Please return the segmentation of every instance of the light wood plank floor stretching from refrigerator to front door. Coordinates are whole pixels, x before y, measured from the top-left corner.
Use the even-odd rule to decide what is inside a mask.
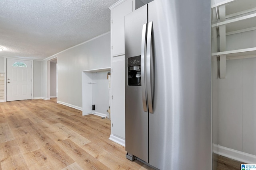
[[[108,138],[110,120],[52,100],[0,103],[0,170],[145,170]]]

